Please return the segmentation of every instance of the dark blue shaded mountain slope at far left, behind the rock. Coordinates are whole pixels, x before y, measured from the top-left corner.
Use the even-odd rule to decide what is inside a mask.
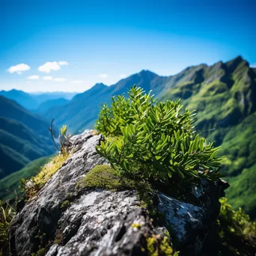
[[[55,152],[49,123],[0,96],[0,178]]]

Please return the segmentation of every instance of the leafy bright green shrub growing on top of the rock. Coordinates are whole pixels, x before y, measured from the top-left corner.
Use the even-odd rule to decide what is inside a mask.
[[[220,177],[219,147],[195,135],[194,114],[181,112],[179,101],[158,103],[135,85],[103,105],[96,128],[105,135],[97,152],[119,174],[145,177],[157,183]]]

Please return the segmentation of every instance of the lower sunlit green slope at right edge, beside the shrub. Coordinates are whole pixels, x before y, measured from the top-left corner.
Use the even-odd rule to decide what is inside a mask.
[[[222,152],[227,156],[224,170],[231,187],[227,190],[234,207],[256,216],[256,112],[227,129]]]

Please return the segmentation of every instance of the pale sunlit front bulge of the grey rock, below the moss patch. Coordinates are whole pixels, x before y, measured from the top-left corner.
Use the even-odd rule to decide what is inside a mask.
[[[132,192],[99,191],[82,195],[61,218],[64,246],[53,245],[47,256],[142,253],[143,233],[148,234],[152,228],[138,204]],[[133,223],[141,225],[139,231],[132,228]]]

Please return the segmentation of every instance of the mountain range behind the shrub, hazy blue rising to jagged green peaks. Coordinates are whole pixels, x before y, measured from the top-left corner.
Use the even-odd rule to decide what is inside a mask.
[[[159,100],[181,99],[184,107],[197,110],[198,132],[216,145],[222,144],[227,156],[222,171],[231,183],[228,198],[234,207],[256,216],[256,69],[240,56],[226,63],[187,67],[175,76],[142,70],[115,85],[94,85],[69,101],[50,100],[38,112],[48,122],[55,118],[58,127],[67,124],[72,132],[93,128],[100,104],[110,103],[112,96],[126,93],[134,84],[153,90]],[[29,102],[20,97],[17,101]]]

